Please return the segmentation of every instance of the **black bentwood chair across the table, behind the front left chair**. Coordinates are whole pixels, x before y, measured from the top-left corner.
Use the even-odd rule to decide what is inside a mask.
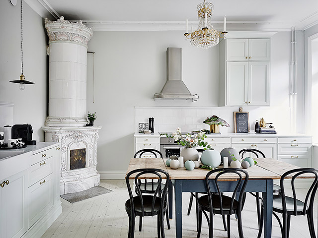
[[[159,155],[160,158],[162,158],[161,152],[158,151],[158,150],[155,150],[155,149],[142,149],[142,150],[139,150],[134,155],[134,158],[138,158],[137,156],[139,156],[139,158],[142,158],[142,155],[145,154],[145,153],[153,154],[155,156],[155,158],[157,158],[157,156]],[[151,179],[150,182],[147,181],[147,179],[144,179],[144,180],[145,180],[144,182],[142,182],[141,179],[138,180],[139,189],[140,189],[140,191],[142,193],[154,194],[156,192],[156,189],[157,189],[158,186],[159,186],[159,193],[161,193],[163,191],[163,188],[164,188],[164,185],[165,185],[164,183],[159,183],[159,181],[154,181],[154,179]],[[137,187],[135,187],[135,191],[137,192]],[[167,211],[166,212],[167,227],[168,227],[168,230],[170,230],[170,222],[169,222],[169,217],[168,216],[169,215],[168,215],[168,211]],[[139,231],[140,232],[142,230],[142,225],[143,225],[143,217],[140,216],[140,218],[139,218]]]

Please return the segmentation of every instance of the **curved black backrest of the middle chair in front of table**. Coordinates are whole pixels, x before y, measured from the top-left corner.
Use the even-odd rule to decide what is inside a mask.
[[[217,189],[217,193],[218,193],[217,195],[219,196],[219,201],[220,201],[220,209],[221,209],[220,212],[221,212],[221,215],[223,215],[222,194],[223,194],[223,192],[226,192],[226,191],[221,191],[218,179],[220,176],[222,176],[224,174],[228,174],[228,173],[236,174],[238,176],[238,182],[237,182],[237,185],[233,191],[233,195],[232,195],[232,199],[231,199],[230,214],[232,214],[233,204],[234,204],[237,192],[239,192],[239,201],[238,201],[239,202],[239,209],[240,210],[242,209],[243,200],[245,198],[244,191],[245,191],[247,181],[248,181],[248,173],[245,170],[236,169],[236,168],[216,169],[216,170],[210,171],[205,177],[205,184],[207,186],[208,198],[209,198],[209,203],[210,203],[210,216],[211,215],[213,216],[212,193],[215,193],[215,190],[211,190],[211,188],[212,188],[211,186],[214,186],[214,188]],[[214,179],[209,178],[212,174],[216,174]],[[244,180],[243,180],[242,174],[245,175]],[[222,179],[222,177],[220,179]],[[211,180],[213,180],[214,182],[211,182]]]

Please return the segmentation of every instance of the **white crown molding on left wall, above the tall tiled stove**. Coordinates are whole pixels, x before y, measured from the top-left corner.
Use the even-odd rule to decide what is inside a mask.
[[[42,18],[59,19],[60,14],[47,2],[47,0],[24,0]]]

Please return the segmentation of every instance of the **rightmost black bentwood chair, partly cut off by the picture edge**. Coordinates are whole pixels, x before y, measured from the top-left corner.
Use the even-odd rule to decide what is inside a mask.
[[[286,196],[285,188],[284,188],[284,179],[291,174],[293,174],[292,175],[293,178],[291,179],[291,187],[292,187],[293,193],[292,193],[292,196]],[[294,184],[295,179],[297,179],[297,177],[302,176],[303,174],[312,174],[315,176],[315,179],[312,181],[311,186],[308,188],[304,202],[297,199],[295,184]],[[315,200],[315,195],[316,195],[317,187],[318,187],[318,169],[301,168],[301,169],[287,171],[285,174],[282,175],[280,179],[280,187],[281,187],[281,194],[274,195],[273,197],[273,214],[279,223],[279,226],[282,232],[282,238],[289,237],[291,216],[305,216],[305,215],[307,215],[307,222],[308,222],[310,237],[316,238],[313,207],[314,207],[314,200]],[[264,213],[264,208],[262,206],[261,228],[259,229],[258,238],[261,237],[261,233],[262,233],[263,213]],[[280,221],[276,213],[282,214],[283,223]]]

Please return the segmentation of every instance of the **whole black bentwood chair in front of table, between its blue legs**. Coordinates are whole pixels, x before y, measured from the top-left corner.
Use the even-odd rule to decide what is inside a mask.
[[[220,190],[218,179],[220,176],[224,174],[236,174],[238,176],[237,185],[233,191],[232,197],[223,195]],[[216,174],[215,179],[209,179],[212,174]],[[242,177],[244,174],[245,178]],[[222,178],[222,177],[221,177]],[[220,178],[220,179],[221,179]],[[244,179],[244,180],[243,180]],[[222,180],[222,179],[221,179]],[[199,197],[199,230],[198,236],[201,235],[201,227],[202,227],[202,213],[204,213],[208,225],[209,225],[209,238],[213,237],[213,216],[214,214],[221,214],[228,216],[228,238],[231,237],[231,215],[236,214],[238,217],[238,229],[239,229],[239,238],[243,238],[243,229],[242,229],[242,217],[241,211],[244,204],[244,190],[248,181],[248,174],[246,171],[242,169],[236,168],[223,168],[223,169],[216,169],[210,171],[205,177],[205,183],[207,186],[208,194]],[[211,192],[211,187],[217,189],[217,194]],[[239,192],[239,200],[235,199],[235,196]],[[207,214],[209,213],[209,215]]]

